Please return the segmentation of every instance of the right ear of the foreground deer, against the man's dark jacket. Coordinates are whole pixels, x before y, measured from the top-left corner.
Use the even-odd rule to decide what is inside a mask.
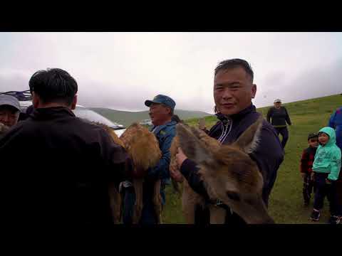
[[[264,118],[260,116],[254,124],[252,124],[243,134],[240,135],[239,139],[232,144],[236,146],[246,154],[252,153],[259,144],[260,132],[262,127],[262,122]]]

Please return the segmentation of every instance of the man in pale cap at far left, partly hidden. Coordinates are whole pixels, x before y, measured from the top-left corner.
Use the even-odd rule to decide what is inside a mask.
[[[16,97],[0,95],[0,135],[18,122],[20,110]]]

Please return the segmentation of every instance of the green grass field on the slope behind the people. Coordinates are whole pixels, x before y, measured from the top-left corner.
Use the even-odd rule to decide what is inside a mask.
[[[276,223],[312,223],[309,215],[313,200],[311,199],[309,207],[303,206],[301,192],[303,183],[299,173],[301,152],[307,147],[307,135],[325,127],[333,111],[341,104],[342,95],[333,95],[283,105],[290,114],[292,126],[289,127],[285,159],[278,170],[269,201],[269,214]],[[268,108],[260,108],[258,112],[266,117]],[[215,117],[206,117],[207,128],[212,127],[216,122]],[[187,123],[197,125],[198,119],[188,119]],[[168,186],[166,191],[167,203],[163,211],[163,222],[185,223],[182,217],[180,196],[173,192],[172,186]],[[319,223],[326,223],[328,217],[328,202],[326,201]]]

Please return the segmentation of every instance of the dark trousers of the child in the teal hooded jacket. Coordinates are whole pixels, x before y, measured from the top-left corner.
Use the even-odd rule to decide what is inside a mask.
[[[331,215],[338,215],[336,181],[333,181],[331,184],[326,184],[327,177],[328,174],[315,173],[316,193],[314,209],[321,210],[323,208],[324,198],[327,198]]]

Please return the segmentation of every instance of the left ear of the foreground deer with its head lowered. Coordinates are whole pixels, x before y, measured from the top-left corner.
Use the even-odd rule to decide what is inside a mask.
[[[176,131],[180,147],[189,159],[195,161],[197,164],[212,159],[212,153],[207,149],[204,143],[192,133],[189,127],[186,127],[183,124],[177,124]]]

